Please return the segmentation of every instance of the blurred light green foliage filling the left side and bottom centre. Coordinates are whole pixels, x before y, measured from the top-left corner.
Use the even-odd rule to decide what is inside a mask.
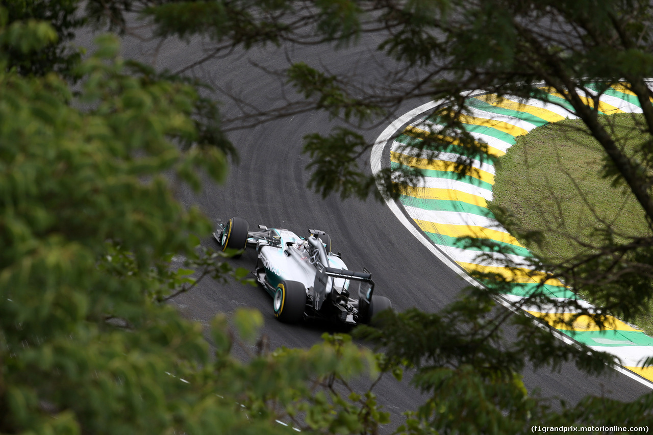
[[[0,28],[0,39],[22,44],[7,37],[19,28],[42,47],[52,36],[46,24],[21,26]],[[259,346],[239,362],[232,346],[247,351],[263,318],[238,310],[212,322],[212,359],[202,325],[161,303],[206,276],[244,279],[197,246],[193,234],[210,223],[172,193],[173,183],[199,185],[201,170],[221,180],[225,157],[212,144],[179,149],[201,137],[193,86],[130,74],[115,37],[97,46],[76,71],[76,96],[53,72],[0,70],[0,432],[285,434],[279,419],[377,430],[387,413],[371,391],[339,393],[379,376],[351,338]]]

